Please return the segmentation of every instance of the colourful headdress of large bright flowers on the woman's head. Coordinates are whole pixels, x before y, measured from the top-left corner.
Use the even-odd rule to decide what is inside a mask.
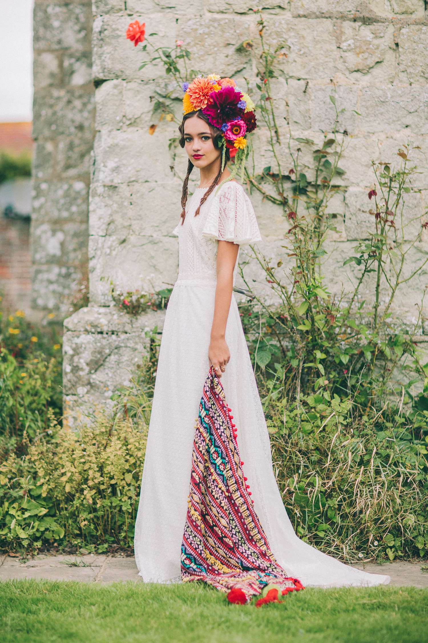
[[[231,158],[235,158],[232,174],[220,185],[233,179],[238,170],[243,181],[245,161],[251,146],[248,134],[257,127],[255,105],[250,96],[239,89],[232,78],[221,78],[217,74],[198,76],[192,82],[184,82],[182,89],[183,113],[201,110],[209,123],[223,132],[218,142],[219,147],[223,147],[221,172],[225,168],[227,147]]]

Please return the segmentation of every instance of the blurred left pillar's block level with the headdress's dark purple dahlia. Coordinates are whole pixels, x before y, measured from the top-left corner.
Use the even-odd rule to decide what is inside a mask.
[[[33,138],[81,136],[94,118],[92,88],[51,87],[35,91]]]

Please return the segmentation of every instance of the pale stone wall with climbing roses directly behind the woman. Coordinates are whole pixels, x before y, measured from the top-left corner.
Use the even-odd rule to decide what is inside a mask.
[[[259,50],[237,50],[257,42],[256,17],[244,0],[93,0],[92,74],[96,84],[96,138],[90,185],[89,273],[90,306],[65,321],[65,401],[74,410],[110,404],[115,386],[128,377],[144,350],[144,320],[131,323],[112,307],[110,281],[122,289],[160,288],[175,282],[178,241],[171,231],[180,215],[182,177],[187,158],[180,148],[168,151],[176,125],[162,120],[154,134],[151,107],[156,97],[173,89],[163,68],[139,71],[144,54],[124,35],[131,21],[146,23],[154,46],[173,46],[175,39],[192,51],[195,66],[205,73],[244,78],[253,86]],[[280,134],[318,140],[330,131],[334,110],[329,95],[336,91],[341,114],[339,129],[346,139],[338,182],[341,197],[332,202],[338,232],[327,243],[326,271],[332,292],[347,289],[352,280],[339,267],[355,242],[368,234],[372,159],[399,160],[398,147],[417,144],[412,153],[421,174],[411,199],[420,228],[428,206],[428,26],[422,0],[290,0],[263,3],[265,38],[285,42],[273,99]],[[180,98],[176,93],[177,99]],[[176,103],[177,116],[180,103]],[[157,121],[156,121],[157,123]],[[266,129],[255,133],[256,169],[270,164]],[[295,144],[296,147],[297,144]],[[291,167],[287,147],[280,150],[284,167]],[[181,179],[180,179],[181,177]],[[194,177],[196,179],[196,177]],[[274,260],[284,258],[287,224],[275,206],[251,194],[263,242],[259,249]],[[427,237],[411,250],[411,264],[427,253]],[[250,252],[251,254],[251,252]],[[240,251],[241,262],[250,259]],[[257,263],[249,260],[246,276],[254,289],[267,294]],[[398,294],[395,314],[411,321],[420,302],[422,280]],[[368,296],[373,295],[370,289]],[[123,316],[122,316],[123,317]],[[100,323],[101,320],[101,323]],[[152,320],[153,321],[153,320]],[[162,315],[156,322],[161,325]],[[139,335],[140,332],[140,335]],[[105,335],[110,334],[106,340]],[[85,376],[79,368],[88,366]],[[83,383],[84,380],[84,383]],[[103,382],[103,389],[98,386]]]

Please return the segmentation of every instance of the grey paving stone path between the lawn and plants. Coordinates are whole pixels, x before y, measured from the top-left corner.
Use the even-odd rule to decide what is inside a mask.
[[[393,562],[385,565],[355,565],[373,574],[388,574],[391,585],[428,588],[427,563]],[[117,581],[142,582],[133,557],[101,554],[58,554],[38,556],[22,561],[0,555],[0,581],[12,578],[37,578],[51,581],[82,581],[108,584]]]

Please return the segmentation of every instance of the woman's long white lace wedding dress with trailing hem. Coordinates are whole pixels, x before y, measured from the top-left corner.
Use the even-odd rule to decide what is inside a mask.
[[[235,181],[216,189],[194,217],[206,188],[188,199],[178,235],[179,271],[169,298],[158,358],[148,443],[135,522],[135,561],[143,581],[179,583],[187,514],[194,425],[210,363],[218,240],[261,240],[248,195]],[[234,284],[239,255],[234,268]],[[271,551],[287,574],[305,586],[372,586],[389,576],[340,563],[300,540],[282,502],[272,468],[269,433],[235,296],[225,338],[230,361],[221,377],[238,431],[244,475]]]

